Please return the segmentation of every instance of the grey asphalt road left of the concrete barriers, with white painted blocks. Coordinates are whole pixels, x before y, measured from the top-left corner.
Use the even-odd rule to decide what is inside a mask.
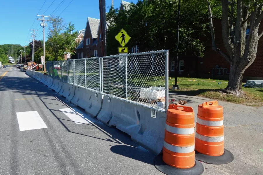
[[[153,166],[155,155],[127,134],[86,115],[25,72],[7,67],[0,76],[1,175],[162,174]]]

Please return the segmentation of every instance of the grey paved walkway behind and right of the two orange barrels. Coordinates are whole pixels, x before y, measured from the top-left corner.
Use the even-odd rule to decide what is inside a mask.
[[[169,94],[169,99],[185,100],[195,112],[198,104],[213,101],[203,97]],[[171,103],[171,102],[170,102]],[[263,107],[252,107],[218,101],[224,107],[225,148],[233,153],[235,160],[225,165],[203,163],[204,175],[249,175],[263,174]],[[260,150],[261,149],[261,150]]]

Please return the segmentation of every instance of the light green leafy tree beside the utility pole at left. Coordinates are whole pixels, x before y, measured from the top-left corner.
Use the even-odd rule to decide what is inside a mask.
[[[76,53],[75,48],[78,45],[75,41],[77,31],[72,33],[74,29],[74,24],[70,22],[68,25],[65,25],[64,19],[59,16],[50,18],[46,50],[47,55],[50,54],[52,57],[47,60],[63,60],[65,52],[69,52],[72,55]]]

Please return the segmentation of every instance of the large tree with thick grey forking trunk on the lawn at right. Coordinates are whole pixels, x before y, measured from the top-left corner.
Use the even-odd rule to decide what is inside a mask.
[[[226,90],[239,91],[242,87],[243,74],[254,62],[259,38],[263,35],[263,31],[259,32],[259,24],[263,19],[263,1],[221,0],[222,38],[226,52],[220,50],[215,41],[212,3],[217,1],[205,1],[210,19],[212,48],[230,63],[229,83]],[[246,38],[248,22],[250,22],[250,26]]]

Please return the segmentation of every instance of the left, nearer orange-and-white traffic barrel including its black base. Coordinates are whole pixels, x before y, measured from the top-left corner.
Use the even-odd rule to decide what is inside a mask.
[[[195,123],[193,108],[170,104],[165,123],[162,157],[155,167],[165,174],[202,174],[203,165],[195,160]]]

